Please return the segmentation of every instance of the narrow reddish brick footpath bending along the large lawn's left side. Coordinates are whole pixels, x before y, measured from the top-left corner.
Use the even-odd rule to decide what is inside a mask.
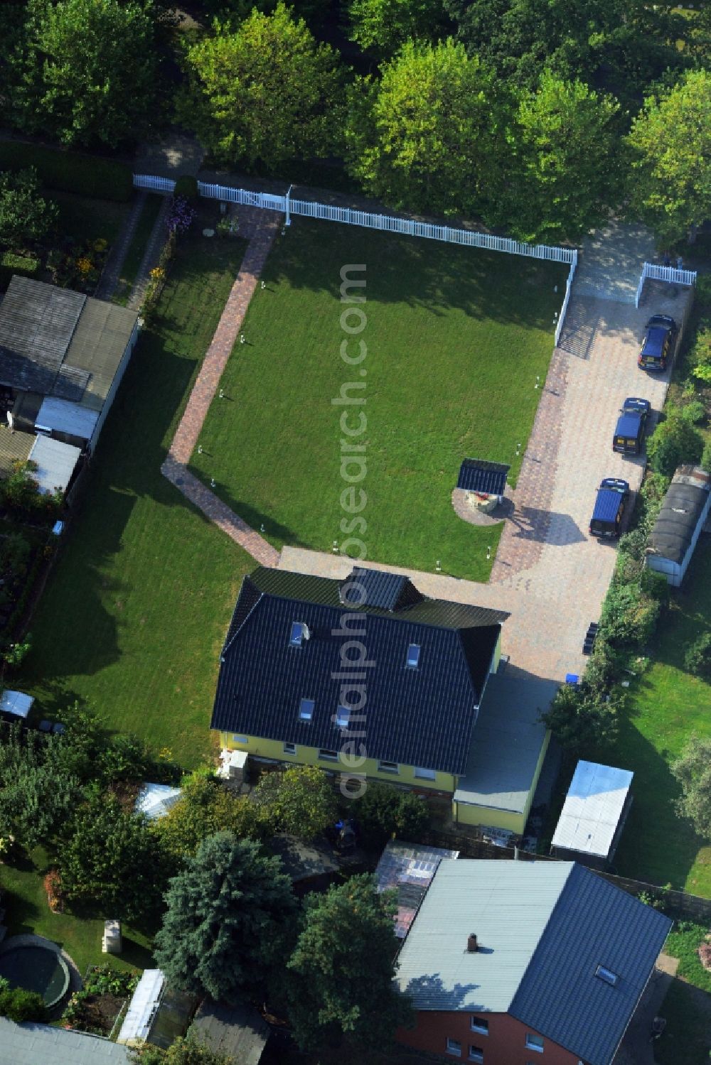
[[[168,456],[161,469],[171,484],[175,485],[236,543],[247,551],[257,562],[262,566],[276,566],[279,555],[269,541],[255,532],[188,470],[203,423],[242,328],[244,315],[257,288],[270,248],[281,225],[281,215],[275,212],[243,207],[239,208],[237,213],[240,219],[240,234],[249,240],[247,250],[173,438]]]

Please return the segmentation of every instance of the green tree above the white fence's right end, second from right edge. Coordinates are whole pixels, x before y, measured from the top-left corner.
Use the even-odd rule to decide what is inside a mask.
[[[491,220],[522,241],[580,241],[619,196],[618,106],[544,73],[512,127],[512,165]]]

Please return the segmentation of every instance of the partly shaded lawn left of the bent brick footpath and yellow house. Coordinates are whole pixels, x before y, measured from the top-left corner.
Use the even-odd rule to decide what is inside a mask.
[[[201,236],[180,246],[14,678],[42,716],[61,718],[67,703],[88,700],[110,728],[168,748],[187,767],[212,750],[220,649],[252,560],[160,466],[243,250],[242,241]]]

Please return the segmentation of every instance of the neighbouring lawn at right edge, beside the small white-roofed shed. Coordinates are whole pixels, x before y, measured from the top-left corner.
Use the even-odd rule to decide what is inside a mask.
[[[684,652],[711,630],[711,544],[701,537],[681,590],[658,628],[651,666],[630,689],[612,765],[634,771],[634,802],[617,851],[626,876],[672,884],[711,898],[711,846],[681,820],[674,800],[679,787],[669,764],[696,733],[711,736],[711,685],[686,673]]]

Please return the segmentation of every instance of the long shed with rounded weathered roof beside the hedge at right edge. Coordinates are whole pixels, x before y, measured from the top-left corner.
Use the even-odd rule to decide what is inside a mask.
[[[711,510],[711,475],[701,466],[679,466],[649,537],[647,566],[678,588]]]

